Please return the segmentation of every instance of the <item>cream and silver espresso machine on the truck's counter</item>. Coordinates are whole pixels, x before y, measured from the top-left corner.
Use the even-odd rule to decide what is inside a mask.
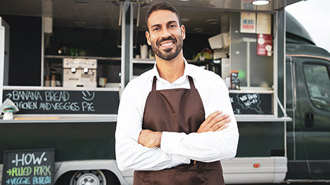
[[[63,87],[96,88],[96,59],[63,58]]]

